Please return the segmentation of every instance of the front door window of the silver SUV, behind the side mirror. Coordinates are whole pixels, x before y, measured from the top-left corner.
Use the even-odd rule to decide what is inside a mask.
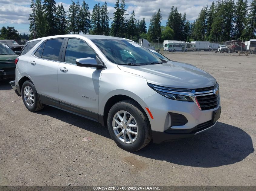
[[[75,60],[78,58],[96,59],[96,54],[84,41],[78,39],[68,39],[64,62],[75,64]]]

